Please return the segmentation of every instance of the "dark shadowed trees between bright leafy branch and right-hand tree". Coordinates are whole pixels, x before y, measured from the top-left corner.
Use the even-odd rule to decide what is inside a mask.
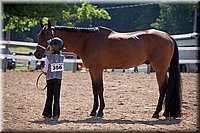
[[[123,8],[128,4],[101,4],[99,8],[105,7],[122,7],[107,10],[111,16],[110,21],[106,20],[93,20],[93,26],[106,26],[119,32],[129,32],[136,30],[143,30],[151,28],[150,24],[156,21],[159,16],[159,5],[152,4],[147,6],[137,6],[138,4],[131,4],[132,7]],[[136,6],[134,6],[136,5]]]

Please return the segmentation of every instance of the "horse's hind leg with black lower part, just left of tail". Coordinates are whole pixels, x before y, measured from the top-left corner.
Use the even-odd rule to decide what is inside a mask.
[[[162,110],[162,105],[163,105],[163,100],[165,97],[165,93],[167,90],[167,72],[163,72],[163,71],[157,71],[156,72],[156,77],[157,77],[157,82],[158,82],[158,86],[159,86],[159,99],[158,99],[158,104],[156,107],[156,111],[154,112],[152,118],[159,118],[159,113]]]

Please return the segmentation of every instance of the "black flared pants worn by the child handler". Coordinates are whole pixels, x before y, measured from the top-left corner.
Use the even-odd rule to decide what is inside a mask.
[[[43,116],[51,118],[55,116],[60,116],[60,88],[61,88],[61,79],[51,79],[47,80],[47,98]],[[52,103],[53,104],[53,114],[52,114]]]

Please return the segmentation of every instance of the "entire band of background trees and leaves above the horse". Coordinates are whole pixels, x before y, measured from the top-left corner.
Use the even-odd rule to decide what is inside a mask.
[[[18,21],[14,22],[16,21],[14,19],[11,19],[13,22],[10,23],[11,17],[7,17],[4,19],[4,25],[8,25],[7,29],[14,26],[13,29],[24,31],[23,33],[19,33],[11,30],[11,40],[33,40],[34,42],[37,42],[37,34],[40,31],[40,26],[35,25],[38,25],[41,18],[43,18],[44,22],[51,19],[53,25],[105,26],[118,32],[144,30],[152,27],[166,31],[169,34],[191,33],[193,31],[195,4],[168,3],[133,6],[129,8],[106,8],[125,7],[126,5],[128,4],[5,4],[4,15],[19,17],[17,20],[22,20],[22,22],[26,21],[24,20],[25,17],[31,20],[34,18],[34,22],[37,24],[33,24],[34,22],[30,22],[31,20],[27,21],[33,27],[27,27],[27,30],[25,30],[26,27],[24,24],[20,24]],[[106,8],[107,11],[101,8]],[[200,19],[197,20],[199,21]],[[28,23],[25,23],[25,25],[28,25]],[[20,25],[24,28],[20,28]]]

